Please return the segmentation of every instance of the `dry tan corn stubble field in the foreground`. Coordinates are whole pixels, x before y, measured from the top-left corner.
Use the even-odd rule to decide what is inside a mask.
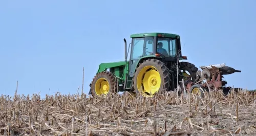
[[[256,135],[256,92],[2,95],[1,135]]]

